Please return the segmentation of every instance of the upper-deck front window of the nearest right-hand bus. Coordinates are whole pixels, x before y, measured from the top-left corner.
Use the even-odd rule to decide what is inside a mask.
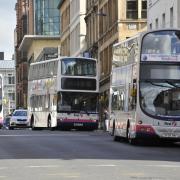
[[[141,61],[180,61],[179,31],[151,32],[142,39]]]

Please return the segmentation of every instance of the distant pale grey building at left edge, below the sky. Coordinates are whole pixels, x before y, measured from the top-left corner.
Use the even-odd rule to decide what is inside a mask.
[[[15,61],[0,60],[0,75],[2,76],[3,116],[6,117],[16,108],[15,103]]]

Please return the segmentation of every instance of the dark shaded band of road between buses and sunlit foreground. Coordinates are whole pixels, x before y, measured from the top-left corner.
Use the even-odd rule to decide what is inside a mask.
[[[180,143],[137,146],[107,132],[0,131],[0,159],[106,159],[180,162]]]

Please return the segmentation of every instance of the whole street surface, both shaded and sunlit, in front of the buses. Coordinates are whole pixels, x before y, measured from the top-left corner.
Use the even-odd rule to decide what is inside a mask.
[[[0,130],[0,180],[179,180],[180,144],[132,146],[103,131]]]

